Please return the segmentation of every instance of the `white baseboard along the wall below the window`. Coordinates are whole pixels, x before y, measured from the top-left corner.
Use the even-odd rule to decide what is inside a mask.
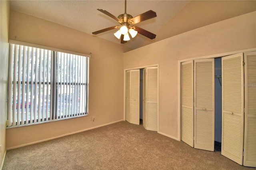
[[[30,143],[21,144],[21,145],[18,145],[18,146],[13,146],[13,147],[10,147],[10,148],[6,148],[6,150],[16,149],[16,148],[20,148],[20,147],[23,147],[23,146],[28,146],[28,145],[31,145],[31,144],[36,144],[36,143],[40,143],[40,142],[45,142],[45,141],[47,141],[47,140],[52,140],[52,139],[56,139],[56,138],[68,136],[68,135],[70,135],[70,134],[76,134],[76,133],[79,133],[79,132],[84,132],[84,131],[86,131],[86,130],[91,130],[91,129],[94,129],[94,128],[104,127],[104,126],[106,126],[106,125],[110,125],[110,124],[113,124],[113,123],[118,123],[118,122],[121,122],[121,121],[124,121],[124,120],[122,119],[122,120],[119,120],[119,121],[114,121],[114,122],[111,122],[111,123],[106,123],[106,124],[99,125],[99,126],[96,126],[96,127],[86,128],[86,129],[83,129],[83,130],[78,130],[78,131],[76,131],[76,132],[71,132],[71,133],[67,133],[67,134],[62,134],[62,135],[60,135],[60,136],[55,136],[55,137],[52,137],[52,138],[47,138],[47,139],[38,140],[38,141],[35,141],[35,142],[30,142]]]

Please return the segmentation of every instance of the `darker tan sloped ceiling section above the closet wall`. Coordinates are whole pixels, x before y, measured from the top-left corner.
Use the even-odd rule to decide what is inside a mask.
[[[154,34],[159,41],[253,11],[256,11],[254,0],[192,0]],[[162,32],[165,34],[158,34]],[[145,41],[141,46],[149,42]]]

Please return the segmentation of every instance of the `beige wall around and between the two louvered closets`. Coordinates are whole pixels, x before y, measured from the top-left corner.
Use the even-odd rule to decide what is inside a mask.
[[[159,64],[159,132],[179,140],[178,60],[256,48],[256,12],[124,53],[124,69]]]

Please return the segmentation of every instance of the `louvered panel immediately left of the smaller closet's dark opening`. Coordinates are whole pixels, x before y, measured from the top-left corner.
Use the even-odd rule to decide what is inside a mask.
[[[140,125],[140,69],[131,70],[131,122]]]

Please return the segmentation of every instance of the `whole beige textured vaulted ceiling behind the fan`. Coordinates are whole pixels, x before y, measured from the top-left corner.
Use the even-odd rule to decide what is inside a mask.
[[[136,24],[156,34],[150,40],[140,34],[121,44],[110,30],[99,38],[136,49],[215,22],[256,10],[256,1],[185,1],[185,0],[127,0],[126,13],[138,16],[148,10],[157,17]],[[124,13],[124,0],[11,0],[11,9],[36,16],[63,26],[91,34],[119,25],[114,19],[99,12],[104,9],[114,16]]]

